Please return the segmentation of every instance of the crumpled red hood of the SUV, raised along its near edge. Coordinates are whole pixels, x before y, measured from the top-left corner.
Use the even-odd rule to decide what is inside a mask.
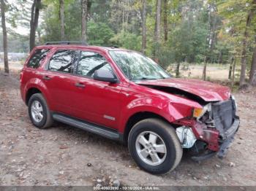
[[[224,101],[230,98],[230,88],[217,85],[212,82],[206,82],[198,79],[156,79],[141,80],[136,82],[139,85],[152,85],[159,87],[173,87],[188,93],[199,96],[204,101]]]

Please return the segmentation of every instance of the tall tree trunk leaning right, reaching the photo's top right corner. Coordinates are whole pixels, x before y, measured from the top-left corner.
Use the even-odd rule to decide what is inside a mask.
[[[241,53],[241,73],[240,73],[240,82],[239,85],[244,85],[245,83],[245,78],[246,78],[246,49],[248,45],[248,37],[249,37],[249,27],[251,26],[252,23],[252,17],[255,12],[255,4],[256,0],[252,1],[252,9],[249,10],[249,13],[246,18],[246,27],[244,31],[244,40],[243,40],[243,49]]]

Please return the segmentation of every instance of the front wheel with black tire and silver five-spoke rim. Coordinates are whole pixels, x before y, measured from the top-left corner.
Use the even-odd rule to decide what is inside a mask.
[[[148,144],[154,140],[150,139],[151,136],[152,138],[157,136],[156,144],[144,147],[144,140]],[[152,142],[154,143],[154,141]],[[153,118],[141,120],[132,127],[128,137],[128,147],[135,163],[150,174],[166,174],[173,171],[180,163],[183,153],[176,130],[167,122]],[[148,152],[151,153],[148,154]]]

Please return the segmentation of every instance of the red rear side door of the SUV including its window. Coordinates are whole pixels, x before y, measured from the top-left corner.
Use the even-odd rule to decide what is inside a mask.
[[[78,50],[56,50],[43,71],[42,80],[50,92],[53,111],[74,115],[75,101],[75,64],[78,61]]]

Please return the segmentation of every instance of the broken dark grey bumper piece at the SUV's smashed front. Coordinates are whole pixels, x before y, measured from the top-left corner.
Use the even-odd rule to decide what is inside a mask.
[[[217,156],[219,158],[223,158],[227,154],[227,150],[229,149],[230,144],[233,142],[234,136],[238,131],[239,124],[240,124],[239,117],[236,116],[232,126],[224,133],[224,137],[222,138],[219,151],[217,152]]]

